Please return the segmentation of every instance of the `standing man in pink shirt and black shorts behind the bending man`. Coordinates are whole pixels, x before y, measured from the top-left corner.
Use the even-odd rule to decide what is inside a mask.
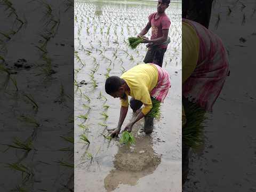
[[[142,43],[148,43],[148,52],[143,62],[154,63],[160,67],[163,65],[164,53],[170,43],[168,37],[171,21],[165,14],[165,10],[169,7],[170,0],[158,0],[157,12],[151,13],[148,17],[148,23],[144,29],[141,30],[138,37],[143,37]],[[150,40],[144,35],[152,28]]]

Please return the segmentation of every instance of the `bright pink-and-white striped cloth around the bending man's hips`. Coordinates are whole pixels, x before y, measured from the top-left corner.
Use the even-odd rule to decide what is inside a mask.
[[[157,99],[158,101],[163,102],[170,87],[170,77],[166,70],[155,65],[153,63],[149,63],[150,65],[154,65],[158,71],[158,79],[155,88],[150,92],[150,96]]]

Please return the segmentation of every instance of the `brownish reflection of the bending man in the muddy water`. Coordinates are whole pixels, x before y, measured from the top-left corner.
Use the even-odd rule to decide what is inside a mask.
[[[120,146],[114,159],[114,169],[104,180],[107,191],[115,190],[120,183],[135,186],[140,178],[152,174],[161,163],[161,155],[153,149],[153,138],[144,133],[135,134],[141,122],[133,127],[136,145]]]

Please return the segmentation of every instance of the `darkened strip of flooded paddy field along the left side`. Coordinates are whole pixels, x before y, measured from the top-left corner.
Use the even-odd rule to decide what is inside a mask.
[[[73,9],[67,1],[1,1],[0,191],[74,186],[66,140],[73,138],[74,37],[62,33]]]

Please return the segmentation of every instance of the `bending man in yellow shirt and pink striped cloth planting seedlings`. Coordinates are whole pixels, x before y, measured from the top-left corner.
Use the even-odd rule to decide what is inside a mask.
[[[134,121],[125,126],[124,130],[131,132],[134,123],[142,117],[147,117],[153,108],[151,98],[163,102],[170,87],[170,77],[167,71],[153,63],[137,65],[127,70],[121,77],[108,77],[105,83],[106,93],[121,100],[119,122],[117,128],[111,133],[111,137],[116,137],[121,131],[129,107],[128,95],[132,97],[130,106],[137,114]],[[138,110],[142,105],[144,107]],[[153,119],[154,117],[149,119],[150,126],[145,119],[144,131],[147,134],[153,131]]]

